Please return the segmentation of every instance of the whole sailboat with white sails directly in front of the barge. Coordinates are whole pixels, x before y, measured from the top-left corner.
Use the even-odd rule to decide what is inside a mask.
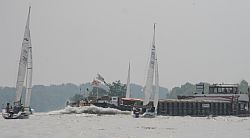
[[[154,81],[155,81],[155,87],[153,87]],[[155,24],[154,24],[154,35],[151,47],[149,68],[144,88],[144,95],[145,97],[143,100],[143,106],[144,108],[146,108],[146,111],[143,113],[141,117],[153,118],[157,115],[157,106],[159,100],[159,74],[158,74],[158,61],[157,61],[156,47],[155,47]],[[153,104],[150,101],[153,101]],[[136,115],[136,117],[138,117],[138,115]]]

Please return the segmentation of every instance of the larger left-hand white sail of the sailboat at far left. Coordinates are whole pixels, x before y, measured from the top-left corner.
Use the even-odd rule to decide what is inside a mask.
[[[30,8],[28,13],[28,19],[25,26],[24,39],[22,43],[21,56],[19,61],[17,83],[16,83],[16,102],[21,100],[21,94],[23,89],[23,83],[25,79],[26,67],[28,62],[28,49],[30,47],[30,30],[29,30],[29,20],[30,20]]]

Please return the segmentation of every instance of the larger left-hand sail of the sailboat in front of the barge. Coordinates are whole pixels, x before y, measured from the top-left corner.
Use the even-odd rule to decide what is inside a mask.
[[[151,48],[151,56],[149,61],[149,68],[147,74],[146,85],[144,89],[144,101],[143,105],[147,105],[149,103],[152,91],[153,91],[153,79],[154,79],[154,67],[155,67],[155,24],[154,24],[154,36],[153,43]]]

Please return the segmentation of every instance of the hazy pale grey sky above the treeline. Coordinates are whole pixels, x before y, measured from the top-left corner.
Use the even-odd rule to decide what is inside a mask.
[[[31,3],[33,84],[145,84],[153,23],[160,85],[250,82],[249,0],[0,0],[0,86],[15,86]]]

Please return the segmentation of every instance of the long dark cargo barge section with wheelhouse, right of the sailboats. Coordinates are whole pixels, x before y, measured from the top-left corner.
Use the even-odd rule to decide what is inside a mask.
[[[204,86],[203,86],[204,88]],[[209,93],[161,100],[158,115],[169,116],[249,116],[249,92],[242,94],[237,84],[213,84]]]

